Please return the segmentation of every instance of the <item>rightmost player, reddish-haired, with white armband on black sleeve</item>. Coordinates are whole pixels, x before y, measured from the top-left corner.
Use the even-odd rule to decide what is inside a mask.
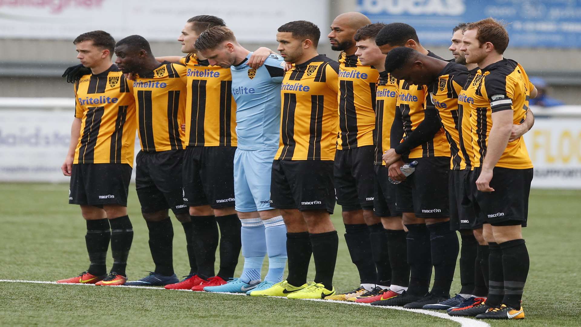
[[[522,227],[533,165],[523,138],[510,139],[512,126],[527,116],[534,86],[519,63],[503,58],[507,46],[504,24],[487,18],[465,27],[460,48],[479,67],[459,98],[471,110],[475,168],[468,193],[489,244],[489,293],[485,303],[458,312],[484,319],[525,318],[521,298],[529,271]]]

